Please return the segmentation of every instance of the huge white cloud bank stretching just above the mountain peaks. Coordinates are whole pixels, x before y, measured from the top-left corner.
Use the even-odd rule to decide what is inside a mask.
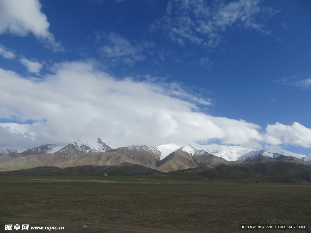
[[[280,142],[311,147],[311,130],[298,123],[276,123],[262,133],[254,123],[197,112],[198,104],[210,106],[211,100],[178,84],[118,80],[84,62],[61,63],[53,71],[33,82],[0,69],[0,118],[35,122],[0,124],[0,137],[7,138],[0,147],[14,140],[69,144],[94,137],[112,147],[213,140],[253,148]]]

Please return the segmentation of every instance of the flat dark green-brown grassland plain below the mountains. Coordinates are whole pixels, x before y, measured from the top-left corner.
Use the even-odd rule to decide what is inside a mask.
[[[0,232],[20,232],[5,224],[65,227],[25,232],[309,232],[239,224],[311,224],[311,185],[169,176],[0,176],[0,184]]]

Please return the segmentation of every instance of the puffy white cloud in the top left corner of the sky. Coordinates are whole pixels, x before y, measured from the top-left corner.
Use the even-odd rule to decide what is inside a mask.
[[[56,42],[49,32],[49,22],[41,12],[39,0],[0,0],[0,34],[11,33],[26,36],[30,32],[54,51],[62,51],[63,47]]]

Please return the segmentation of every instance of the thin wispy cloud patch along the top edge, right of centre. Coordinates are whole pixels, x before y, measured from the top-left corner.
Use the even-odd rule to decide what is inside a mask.
[[[270,34],[265,29],[265,21],[277,11],[260,6],[260,2],[170,0],[165,16],[151,25],[151,30],[163,30],[172,41],[181,45],[191,42],[205,47],[217,46],[221,34],[230,28],[251,28]]]

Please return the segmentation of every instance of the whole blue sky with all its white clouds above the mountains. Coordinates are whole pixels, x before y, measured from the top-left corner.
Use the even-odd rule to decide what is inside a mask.
[[[0,147],[311,153],[311,2],[0,0]]]

